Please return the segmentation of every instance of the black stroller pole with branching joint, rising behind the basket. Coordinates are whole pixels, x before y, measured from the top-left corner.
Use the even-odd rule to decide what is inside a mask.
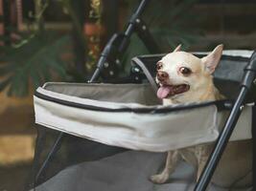
[[[110,70],[111,73],[109,73],[111,76],[104,73],[102,73],[102,75],[110,78],[115,77],[117,73],[114,73],[113,65],[118,65],[118,63],[120,63],[119,59],[122,54],[126,52],[130,36],[133,32],[137,32],[139,38],[145,44],[150,53],[160,53],[160,49],[157,43],[154,41],[151,32],[140,18],[142,12],[145,10],[149,2],[150,0],[142,0],[138,9],[131,15],[125,32],[114,33],[113,36],[109,39],[105,45],[105,49],[101,53],[100,59],[97,63],[97,68],[92,75],[92,78],[88,82],[92,82],[97,79],[98,76],[102,73],[105,65],[107,66],[108,70],[112,68],[112,70]],[[108,66],[109,63],[110,66]]]

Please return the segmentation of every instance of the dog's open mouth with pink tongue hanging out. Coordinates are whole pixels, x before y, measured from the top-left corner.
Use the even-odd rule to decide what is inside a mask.
[[[158,91],[158,98],[166,98],[168,96],[175,96],[189,91],[190,86],[187,84],[180,85],[162,85]]]

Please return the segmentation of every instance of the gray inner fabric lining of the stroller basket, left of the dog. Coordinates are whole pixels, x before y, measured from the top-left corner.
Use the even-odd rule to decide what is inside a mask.
[[[46,83],[44,89],[68,96],[101,101],[160,104],[150,84]]]

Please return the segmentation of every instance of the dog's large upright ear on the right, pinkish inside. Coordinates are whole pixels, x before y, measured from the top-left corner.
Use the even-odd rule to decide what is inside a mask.
[[[223,45],[218,45],[212,53],[201,58],[201,62],[205,65],[205,69],[208,73],[213,74],[216,67],[221,60],[221,54],[223,51]]]

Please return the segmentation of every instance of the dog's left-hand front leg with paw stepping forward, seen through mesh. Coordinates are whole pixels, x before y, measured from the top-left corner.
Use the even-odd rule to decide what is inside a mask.
[[[165,168],[162,173],[151,176],[151,181],[154,183],[164,183],[169,179],[170,174],[175,171],[176,163],[179,159],[177,150],[169,151],[165,163]]]

